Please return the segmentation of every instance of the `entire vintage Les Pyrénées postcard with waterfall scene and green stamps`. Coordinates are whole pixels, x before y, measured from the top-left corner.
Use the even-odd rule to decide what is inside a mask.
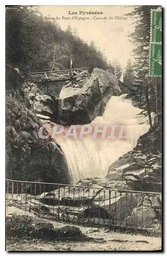
[[[162,250],[161,6],[5,11],[6,250]]]

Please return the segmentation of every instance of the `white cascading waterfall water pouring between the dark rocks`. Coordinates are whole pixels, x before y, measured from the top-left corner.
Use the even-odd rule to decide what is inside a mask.
[[[148,118],[138,115],[141,110],[125,99],[126,94],[112,96],[106,105],[103,116],[95,118],[91,123],[124,124],[126,140],[71,139],[59,136],[57,142],[61,146],[68,164],[72,184],[82,178],[105,177],[108,167],[120,156],[132,150],[139,136],[148,132]]]

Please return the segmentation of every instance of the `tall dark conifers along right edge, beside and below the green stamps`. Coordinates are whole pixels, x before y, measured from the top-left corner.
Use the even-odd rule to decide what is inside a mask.
[[[144,101],[143,108],[147,110],[149,118],[155,113],[154,125],[160,127],[162,119],[162,86],[161,77],[149,77],[149,49],[150,49],[150,18],[151,9],[159,6],[136,6],[134,11],[129,13],[135,19],[135,30],[130,34],[130,40],[135,45],[133,50],[135,58],[134,70],[142,80],[138,88],[140,100]],[[152,123],[152,121],[150,122]]]

